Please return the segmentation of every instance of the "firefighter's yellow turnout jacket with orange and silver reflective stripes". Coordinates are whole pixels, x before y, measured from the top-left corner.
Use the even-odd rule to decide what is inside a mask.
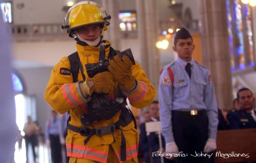
[[[111,45],[106,41],[105,45]],[[99,48],[91,46],[82,46],[76,44],[81,65],[83,65],[84,75],[88,78],[85,66],[87,63],[97,63],[99,60]],[[110,48],[105,49],[106,59],[108,58]],[[131,93],[124,93],[128,97],[129,102],[136,108],[143,108],[151,104],[154,96],[155,89],[148,81],[144,70],[136,62],[132,67],[133,76],[137,80],[137,88]],[[79,70],[78,81],[82,81],[82,75]],[[118,83],[115,83],[117,87]],[[113,96],[116,95],[116,90],[113,89]],[[80,121],[79,111],[86,113],[87,98],[84,98],[80,92],[79,82],[73,82],[73,77],[70,72],[70,61],[68,57],[63,57],[60,62],[52,69],[51,77],[45,90],[44,99],[52,107],[53,110],[63,114],[70,111],[69,124],[77,127],[84,126]],[[110,120],[102,120],[93,122],[91,125],[86,126],[90,129],[109,126],[119,120],[120,111],[113,116]],[[126,160],[137,160],[138,152],[138,131],[135,129],[134,122],[132,121],[127,126],[121,126],[120,129],[125,136],[126,141]],[[119,158],[120,158],[120,145],[121,145],[121,131],[117,129],[113,134],[108,135],[93,135],[90,140],[84,144],[85,136],[78,132],[68,130],[66,138],[67,156],[83,158],[87,160],[94,160],[102,163],[107,162],[108,149],[111,145]]]

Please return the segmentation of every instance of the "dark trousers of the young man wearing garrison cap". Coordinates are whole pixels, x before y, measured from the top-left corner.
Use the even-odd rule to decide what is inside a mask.
[[[205,110],[197,115],[190,111],[172,111],[172,130],[175,143],[186,157],[177,157],[177,163],[203,163],[205,157],[191,155],[204,154],[204,146],[208,139],[208,117]]]

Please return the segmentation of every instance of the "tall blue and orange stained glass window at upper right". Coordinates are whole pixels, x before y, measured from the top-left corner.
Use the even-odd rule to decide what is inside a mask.
[[[240,0],[226,0],[231,70],[255,66],[250,7]]]

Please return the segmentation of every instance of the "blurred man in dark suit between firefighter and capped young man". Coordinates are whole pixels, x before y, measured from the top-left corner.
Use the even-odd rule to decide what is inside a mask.
[[[149,107],[150,121],[159,121],[159,102],[153,101]],[[165,147],[165,140],[163,136],[162,146]],[[145,163],[161,163],[160,156],[153,156],[154,154],[160,154],[160,145],[158,132],[146,132],[145,123],[140,125],[140,140],[139,148],[144,151]],[[162,149],[164,151],[164,149]],[[163,154],[163,152],[161,153]],[[168,160],[164,157],[164,163],[172,163],[172,160]]]

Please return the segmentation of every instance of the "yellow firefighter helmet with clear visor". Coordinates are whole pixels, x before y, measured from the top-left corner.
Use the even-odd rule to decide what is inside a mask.
[[[66,25],[68,19],[69,25]],[[74,29],[91,24],[102,24],[102,27],[106,27],[110,24],[107,20],[110,20],[111,16],[103,10],[103,8],[95,2],[82,1],[73,5],[66,14],[62,29],[67,29],[69,37],[72,37],[71,33]],[[107,29],[105,28],[105,31]]]

